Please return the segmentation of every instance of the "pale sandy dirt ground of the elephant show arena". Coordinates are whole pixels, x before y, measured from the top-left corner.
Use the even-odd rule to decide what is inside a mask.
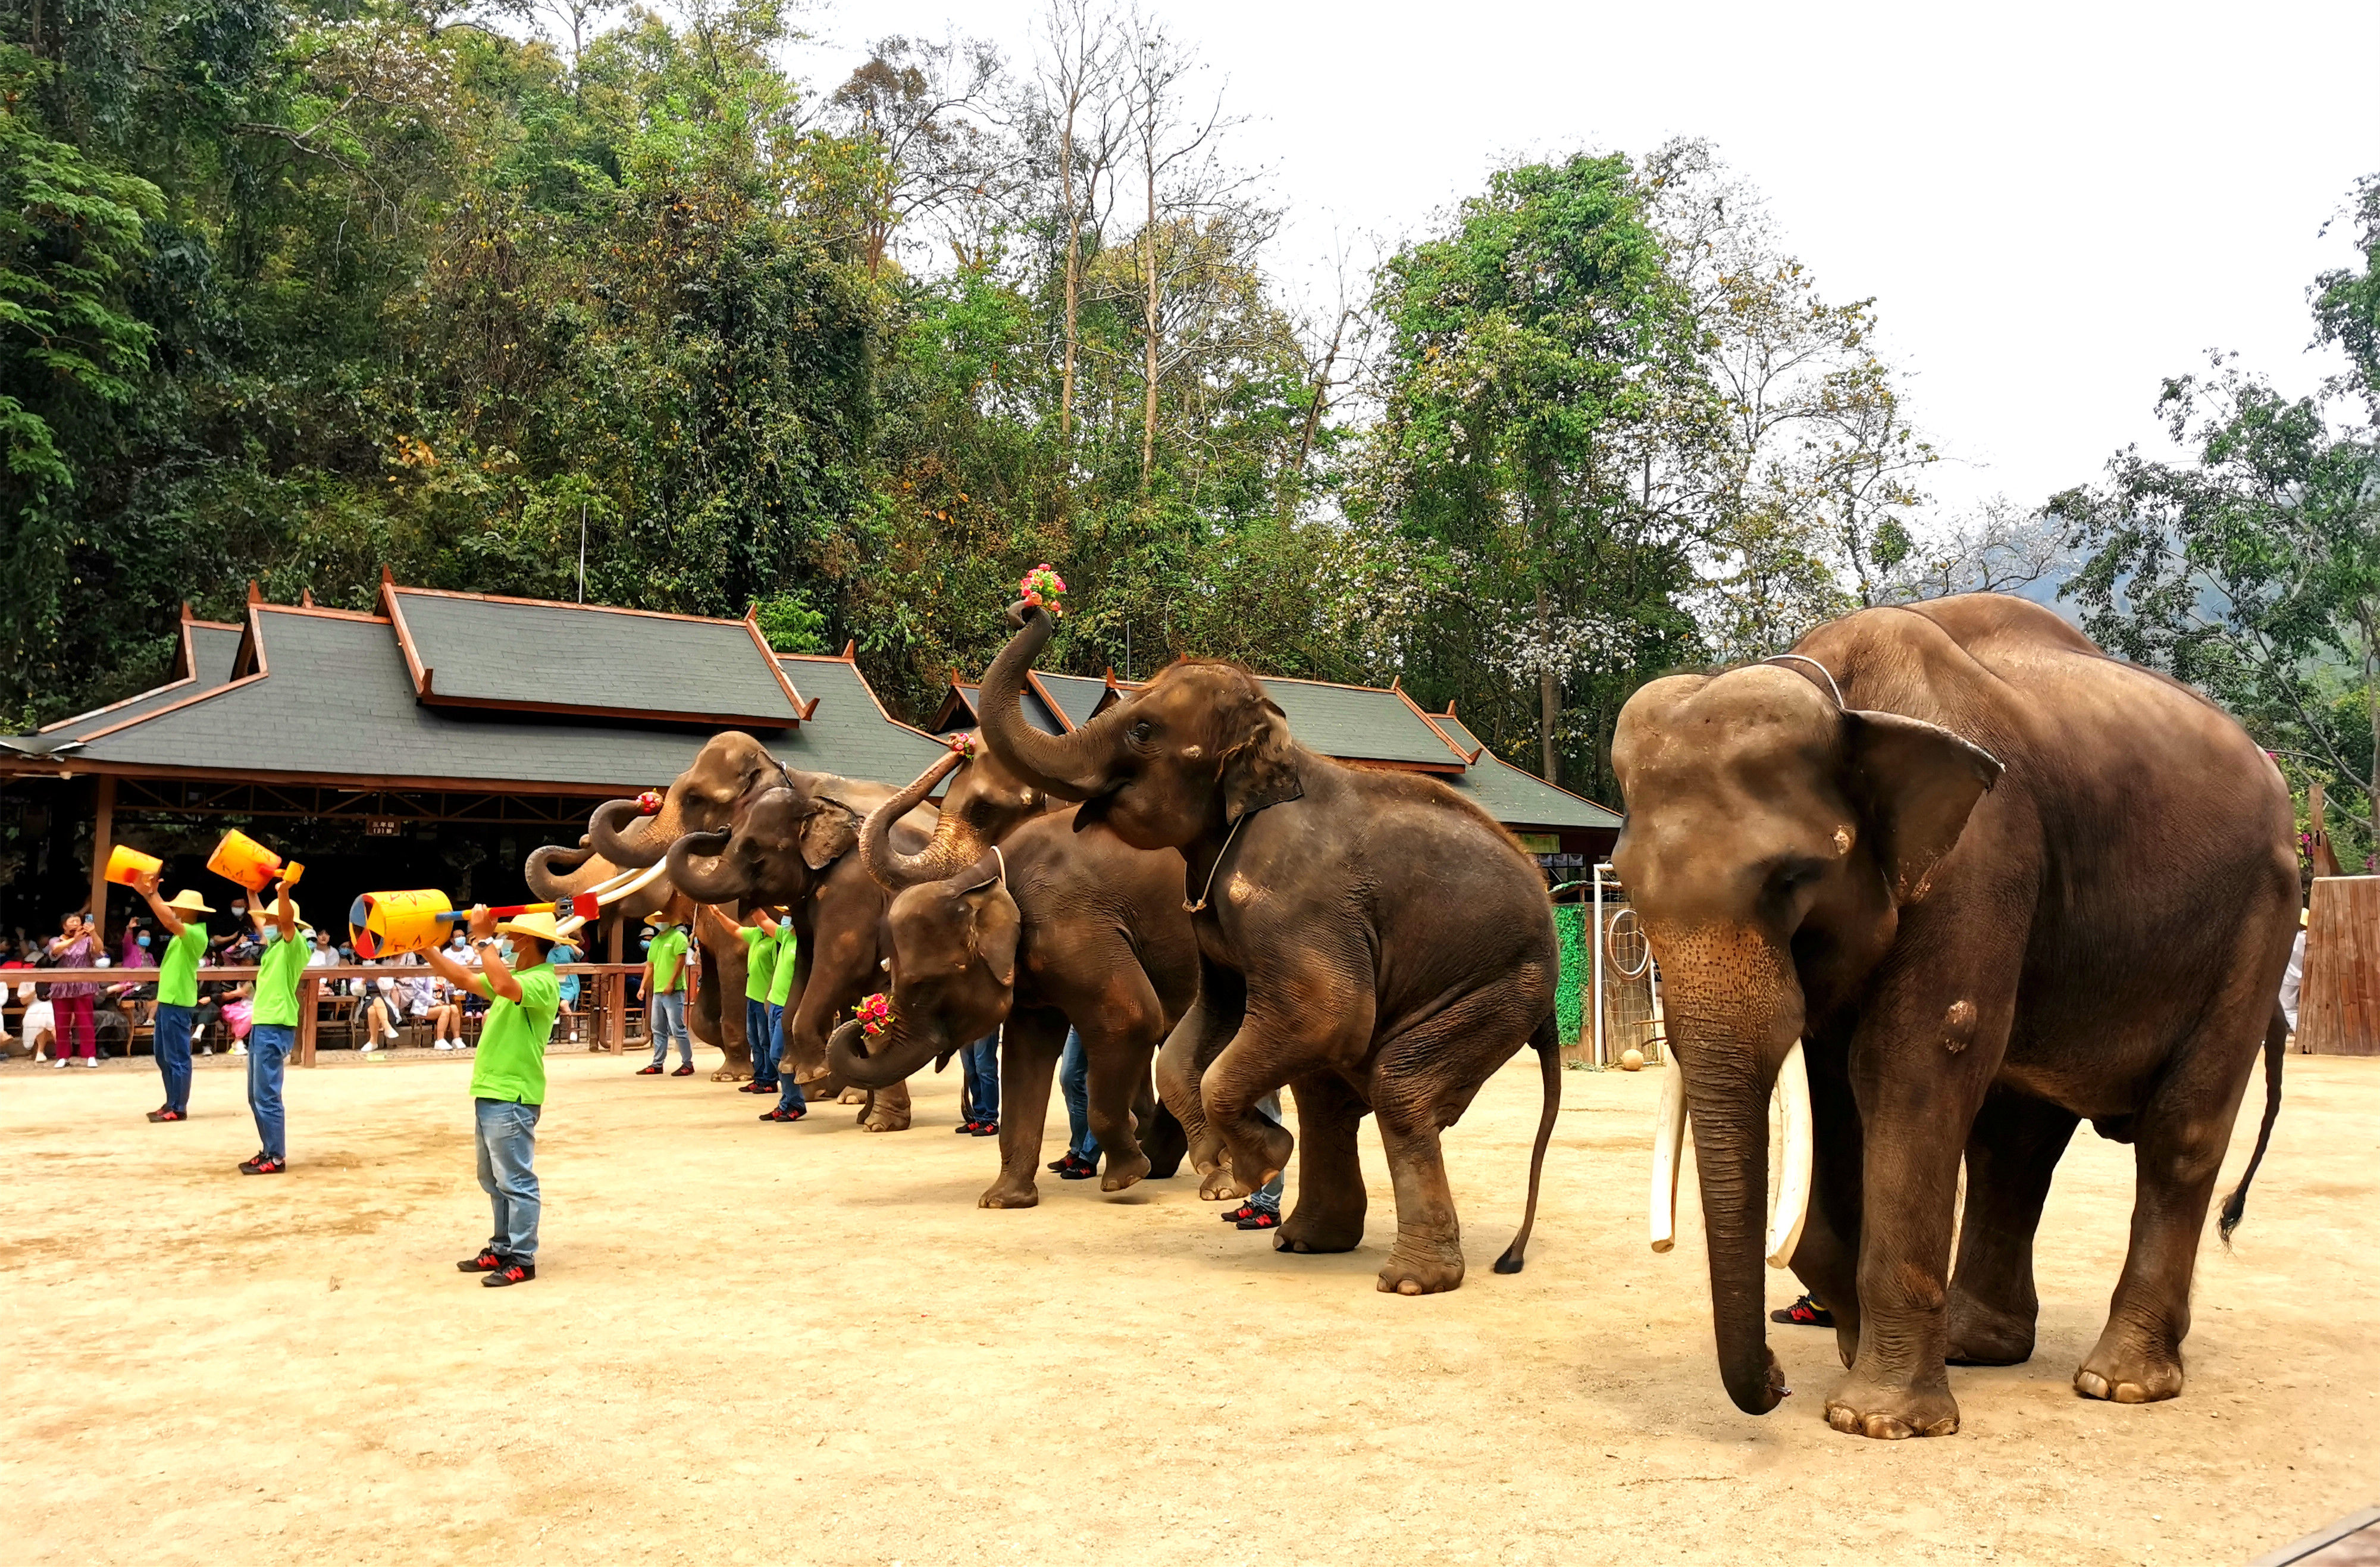
[[[1404,1300],[1373,1291],[1368,1126],[1373,1238],[1283,1257],[1190,1179],[978,1210],[954,1069],[869,1136],[600,1055],[552,1057],[540,1276],[486,1291],[452,1267],[488,1222],[462,1060],[290,1072],[283,1179],[233,1172],[238,1065],[200,1067],[183,1126],[140,1119],[148,1060],[0,1067],[10,1562],[2156,1565],[2380,1500],[2370,1060],[2290,1060],[2180,1400],[2068,1388],[2130,1210],[2130,1150],[2085,1131],[2037,1357],[1954,1369],[1966,1429],[1909,1443],[1825,1429],[1811,1329],[1771,1338],[1797,1398],[1728,1405],[1692,1200],[1676,1253],[1645,1246],[1656,1072],[1566,1074],[1499,1279],[1537,1105],[1507,1067],[1447,1136],[1471,1276]]]

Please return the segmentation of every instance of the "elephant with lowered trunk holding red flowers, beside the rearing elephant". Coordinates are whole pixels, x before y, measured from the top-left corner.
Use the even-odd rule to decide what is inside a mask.
[[[952,876],[892,845],[892,822],[959,764],[942,757],[869,812],[859,860],[892,893],[892,1017],[883,1038],[847,1019],[826,1041],[835,1076],[888,1086],[992,1029],[1000,1048],[1000,1179],[978,1207],[1033,1207],[1050,1074],[1081,1029],[1090,1057],[1090,1129],[1107,1155],[1102,1191],[1166,1179],[1183,1131],[1150,1095],[1150,1053],[1197,995],[1197,938],[1180,907],[1183,860],[1145,853],[1073,810],[1026,819],[997,853]],[[1147,1145],[1135,1117],[1150,1126]]]

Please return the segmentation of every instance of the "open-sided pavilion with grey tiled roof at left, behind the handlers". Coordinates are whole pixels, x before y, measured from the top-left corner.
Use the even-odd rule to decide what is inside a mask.
[[[164,686],[0,736],[0,812],[38,841],[19,872],[50,905],[79,903],[67,874],[107,895],[117,838],[162,853],[178,886],[226,824],[307,862],[305,895],[326,907],[395,886],[500,903],[526,891],[531,848],[576,843],[597,800],[666,786],[721,729],[862,779],[907,781],[940,755],[852,648],[771,653],[750,617],[383,581],[371,614],[255,593],[240,624],[186,610]]]

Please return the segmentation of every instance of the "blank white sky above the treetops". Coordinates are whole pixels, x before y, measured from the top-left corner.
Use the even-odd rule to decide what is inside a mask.
[[[793,64],[950,29],[1031,55],[1038,0],[828,0]],[[2128,441],[2209,348],[2285,391],[2318,238],[2380,171],[2380,5],[1928,7],[1157,0],[1247,114],[1235,157],[1290,210],[1276,264],[1418,233],[1497,162],[1704,136],[1830,298],[1873,295],[1961,507],[2040,502]]]

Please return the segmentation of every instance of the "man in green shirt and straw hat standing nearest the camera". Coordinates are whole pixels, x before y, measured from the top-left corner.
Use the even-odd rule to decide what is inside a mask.
[[[495,1229],[476,1257],[457,1262],[481,1284],[502,1288],[538,1276],[538,1115],[545,1107],[545,1041],[562,1010],[562,976],[547,960],[562,934],[552,914],[516,914],[505,924],[486,905],[471,910],[478,972],[445,953],[426,953],[443,979],[488,998],[471,1062],[471,1124],[478,1143],[478,1186],[495,1210]],[[519,967],[514,967],[519,964]]]

